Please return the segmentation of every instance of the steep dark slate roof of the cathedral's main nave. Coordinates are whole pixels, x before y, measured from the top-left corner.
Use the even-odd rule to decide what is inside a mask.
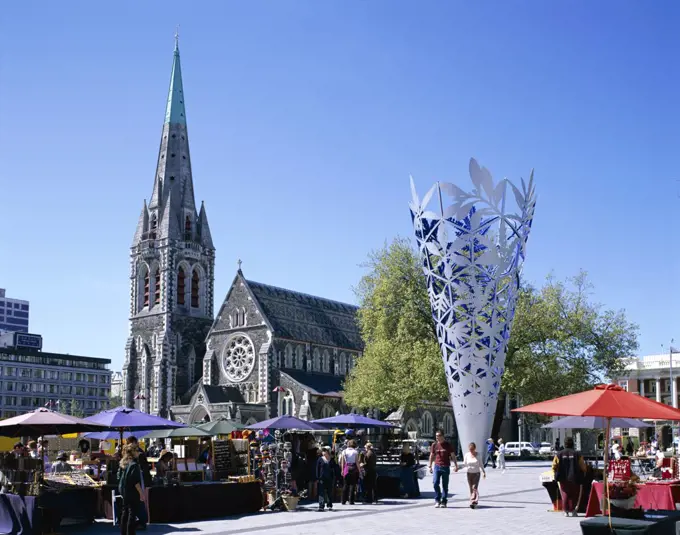
[[[247,281],[279,338],[363,350],[358,307],[260,282]]]

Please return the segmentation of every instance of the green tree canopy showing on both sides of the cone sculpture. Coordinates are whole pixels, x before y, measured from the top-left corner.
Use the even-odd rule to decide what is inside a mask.
[[[413,409],[448,398],[444,365],[416,251],[397,238],[372,252],[355,288],[365,349],[345,384],[357,408]],[[582,391],[616,374],[637,350],[623,311],[593,303],[585,273],[520,290],[502,390],[522,403]]]

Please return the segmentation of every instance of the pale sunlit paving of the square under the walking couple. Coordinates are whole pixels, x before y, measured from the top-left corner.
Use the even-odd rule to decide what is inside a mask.
[[[335,505],[333,511],[320,513],[316,506],[306,505],[294,512],[266,512],[229,517],[222,520],[187,524],[155,525],[148,533],[194,532],[236,535],[262,533],[292,535],[297,533],[477,533],[477,534],[543,534],[572,535],[581,532],[582,518],[565,518],[552,508],[548,494],[539,482],[539,474],[549,469],[548,463],[508,463],[501,474],[491,468],[480,483],[480,505],[471,510],[467,501],[467,480],[463,471],[451,476],[448,509],[435,509],[431,498],[430,477],[421,480],[418,500],[384,500],[379,505]],[[111,533],[110,523],[100,522],[88,533]]]

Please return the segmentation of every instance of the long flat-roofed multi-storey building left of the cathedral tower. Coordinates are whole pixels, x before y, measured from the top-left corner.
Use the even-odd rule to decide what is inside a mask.
[[[0,348],[0,417],[39,407],[91,416],[108,407],[109,359]]]

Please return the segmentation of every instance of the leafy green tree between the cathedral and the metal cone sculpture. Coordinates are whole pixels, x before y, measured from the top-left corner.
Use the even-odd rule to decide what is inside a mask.
[[[448,396],[419,260],[398,238],[369,255],[355,288],[364,353],[345,384],[357,408],[412,409]]]

